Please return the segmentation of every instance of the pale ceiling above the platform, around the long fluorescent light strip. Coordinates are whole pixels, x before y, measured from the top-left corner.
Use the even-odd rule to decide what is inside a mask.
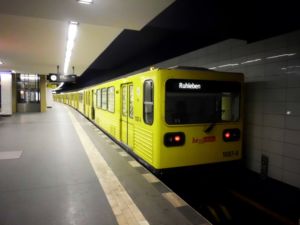
[[[0,70],[56,73],[64,66],[68,22],[79,22],[69,70],[80,76],[123,29],[140,30],[175,0],[1,0]]]

